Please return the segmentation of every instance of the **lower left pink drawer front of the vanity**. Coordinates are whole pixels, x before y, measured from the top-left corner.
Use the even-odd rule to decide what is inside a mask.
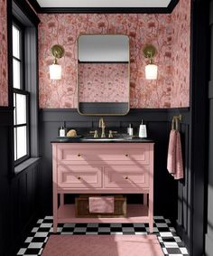
[[[63,188],[102,187],[102,167],[59,166],[58,186]]]

